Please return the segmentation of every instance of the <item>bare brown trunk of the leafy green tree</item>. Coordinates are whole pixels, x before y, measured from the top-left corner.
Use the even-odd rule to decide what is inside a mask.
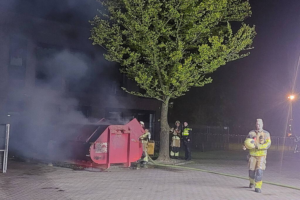
[[[169,108],[169,98],[161,105],[161,130],[159,139],[159,154],[157,161],[169,161],[169,134],[170,127],[168,124],[168,108]]]

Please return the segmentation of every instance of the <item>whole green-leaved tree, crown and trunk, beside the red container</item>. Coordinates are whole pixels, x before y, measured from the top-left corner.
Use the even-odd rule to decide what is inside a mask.
[[[190,87],[212,79],[207,74],[249,55],[254,25],[231,21],[251,15],[248,0],[99,0],[103,9],[91,21],[94,45],[144,90],[128,91],[162,102],[158,160],[169,160],[168,104]],[[245,51],[245,52],[244,52]],[[243,53],[244,52],[244,53]]]

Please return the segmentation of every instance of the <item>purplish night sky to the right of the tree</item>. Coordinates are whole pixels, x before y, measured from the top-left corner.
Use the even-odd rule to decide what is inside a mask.
[[[252,16],[245,22],[255,24],[257,32],[250,56],[217,69],[211,74],[212,84],[192,88],[186,96],[174,101],[174,107],[187,107],[197,99],[212,100],[222,93],[226,97],[225,106],[229,107],[229,125],[244,127],[237,134],[247,134],[246,131],[255,128],[255,119],[262,118],[264,128],[271,135],[283,136],[289,108],[287,96],[300,53],[300,1],[250,0],[250,4]],[[299,81],[296,79],[296,92]],[[294,133],[300,128],[299,106],[299,101],[293,103]],[[191,117],[179,113],[179,118],[190,120]]]

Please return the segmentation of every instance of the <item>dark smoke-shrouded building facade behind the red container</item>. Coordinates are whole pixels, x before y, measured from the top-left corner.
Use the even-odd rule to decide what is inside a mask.
[[[56,125],[103,117],[122,124],[137,118],[158,140],[160,102],[125,93],[121,87],[139,88],[88,40],[98,3],[62,2],[2,2],[0,123],[11,123],[12,145],[23,137],[31,143],[43,130],[49,135]],[[14,128],[19,122],[24,130]]]

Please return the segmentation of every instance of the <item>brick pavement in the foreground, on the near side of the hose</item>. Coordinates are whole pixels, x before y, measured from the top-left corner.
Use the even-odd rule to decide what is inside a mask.
[[[247,180],[192,170],[108,171],[74,171],[10,161],[7,173],[0,174],[0,199],[299,199],[300,195],[298,190],[268,184],[258,194],[245,188]]]

